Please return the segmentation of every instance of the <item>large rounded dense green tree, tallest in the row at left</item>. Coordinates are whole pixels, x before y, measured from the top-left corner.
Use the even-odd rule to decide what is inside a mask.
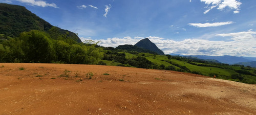
[[[53,42],[45,32],[23,32],[17,40],[23,42],[21,47],[25,54],[25,62],[50,63],[56,60]]]

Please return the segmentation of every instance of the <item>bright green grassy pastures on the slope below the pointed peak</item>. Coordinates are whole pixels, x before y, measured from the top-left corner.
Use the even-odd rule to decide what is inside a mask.
[[[118,53],[124,53],[126,59],[133,59],[136,57],[145,57],[147,60],[151,61],[157,66],[164,65],[167,66],[174,66],[176,71],[182,70],[182,66],[185,66],[188,68],[189,73],[197,73],[202,74],[205,76],[212,77],[213,75],[216,75],[217,78],[220,79],[227,79],[232,81],[239,81],[244,83],[256,83],[256,68],[246,68],[241,67],[239,65],[232,66],[228,64],[218,64],[218,63],[211,63],[211,62],[200,62],[197,60],[189,60],[183,57],[171,57],[168,59],[165,55],[154,55],[149,53],[139,53],[139,54],[130,54],[125,51],[118,52]],[[191,63],[192,61],[193,63]],[[117,63],[113,61],[106,61],[104,60],[107,65],[118,65],[118,64],[124,64],[125,63]],[[251,73],[251,75],[238,73],[236,71],[242,70]],[[253,76],[252,76],[253,75]],[[242,78],[241,78],[242,77]],[[233,79],[232,79],[233,78]]]

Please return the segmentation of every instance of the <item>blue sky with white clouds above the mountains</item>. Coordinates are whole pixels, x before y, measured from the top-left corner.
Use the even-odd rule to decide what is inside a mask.
[[[149,38],[165,54],[256,57],[255,0],[0,0],[103,47]]]

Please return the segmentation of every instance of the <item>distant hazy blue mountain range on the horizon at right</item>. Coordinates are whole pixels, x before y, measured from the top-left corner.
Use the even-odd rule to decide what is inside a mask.
[[[204,60],[218,60],[221,63],[227,64],[240,64],[245,66],[256,67],[256,57],[237,57],[237,56],[205,56],[205,55],[180,55],[180,54],[170,54],[170,55],[179,55],[182,57],[196,57]]]

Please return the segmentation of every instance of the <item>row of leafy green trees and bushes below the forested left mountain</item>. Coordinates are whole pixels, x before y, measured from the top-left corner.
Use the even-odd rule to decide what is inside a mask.
[[[97,44],[77,43],[69,38],[55,40],[37,30],[4,40],[3,45],[0,62],[97,64],[103,57]]]

